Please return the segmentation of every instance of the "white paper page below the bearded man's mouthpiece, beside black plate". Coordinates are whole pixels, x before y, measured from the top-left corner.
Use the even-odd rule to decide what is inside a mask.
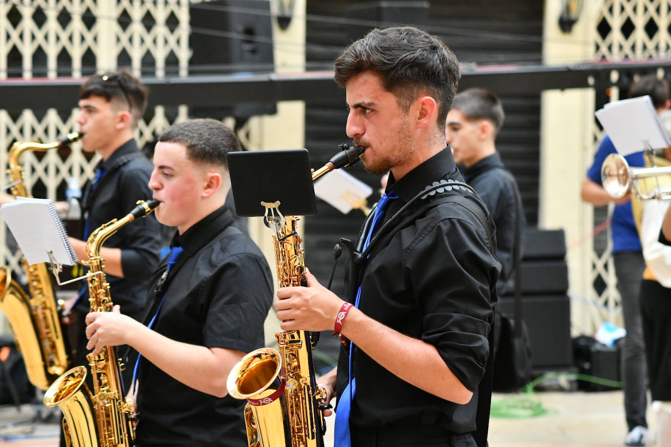
[[[372,192],[373,188],[343,170],[331,171],[315,183],[315,195],[343,214]]]

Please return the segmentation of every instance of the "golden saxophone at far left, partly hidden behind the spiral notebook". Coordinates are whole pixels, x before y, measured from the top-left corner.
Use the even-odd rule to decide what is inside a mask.
[[[14,143],[9,149],[11,194],[14,197],[32,197],[25,186],[23,166],[19,160],[25,151],[48,151],[66,147],[81,138],[70,133],[54,143],[33,141]],[[47,389],[70,366],[70,348],[63,336],[60,312],[46,263],[28,265],[21,260],[28,277],[30,297],[11,279],[11,269],[0,267],[0,309],[5,313],[14,332],[17,346],[23,355],[30,382],[40,389]]]

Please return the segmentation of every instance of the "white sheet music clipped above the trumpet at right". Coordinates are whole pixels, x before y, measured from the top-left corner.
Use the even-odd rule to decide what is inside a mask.
[[[620,155],[640,152],[646,142],[652,149],[671,145],[648,95],[613,101],[595,115]]]

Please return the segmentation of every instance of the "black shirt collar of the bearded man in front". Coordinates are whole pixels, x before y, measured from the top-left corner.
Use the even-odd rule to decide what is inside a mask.
[[[439,180],[455,168],[452,151],[446,147],[425,162],[411,170],[401,180],[396,181],[393,173],[389,173],[389,186],[385,192],[392,190],[401,200],[409,202],[431,182]]]

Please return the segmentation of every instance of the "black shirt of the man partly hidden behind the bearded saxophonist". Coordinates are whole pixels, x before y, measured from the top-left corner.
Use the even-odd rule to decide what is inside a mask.
[[[520,235],[525,227],[524,208],[517,182],[501,162],[498,153],[484,157],[470,168],[462,168],[462,174],[486,204],[497,227],[497,257],[502,265],[497,285],[499,296],[512,292],[515,221],[519,222]]]

